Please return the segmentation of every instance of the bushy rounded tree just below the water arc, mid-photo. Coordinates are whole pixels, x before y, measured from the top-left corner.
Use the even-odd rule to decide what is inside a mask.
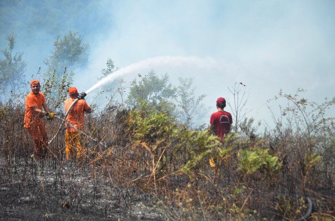
[[[174,104],[170,101],[175,98],[176,88],[168,83],[168,75],[165,73],[158,77],[151,70],[147,75],[142,77],[138,74],[140,80],[134,79],[130,85],[129,95],[126,103],[134,107],[139,106],[141,101],[145,101],[157,109],[173,112]]]

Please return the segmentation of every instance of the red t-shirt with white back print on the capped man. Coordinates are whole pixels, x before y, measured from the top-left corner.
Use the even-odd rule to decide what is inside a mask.
[[[232,124],[231,114],[226,111],[217,111],[210,116],[210,124],[214,125],[214,133],[220,139],[224,134],[229,133],[230,125]]]

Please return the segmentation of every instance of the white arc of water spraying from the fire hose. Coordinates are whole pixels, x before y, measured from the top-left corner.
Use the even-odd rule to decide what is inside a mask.
[[[96,84],[94,84],[91,88],[85,91],[86,94],[93,91],[94,89],[106,84],[113,82],[116,78],[123,76],[125,74],[133,73],[135,71],[139,71],[143,68],[153,68],[154,66],[160,65],[169,65],[171,67],[176,66],[196,66],[198,68],[208,68],[212,66],[218,66],[217,61],[212,58],[201,59],[198,57],[182,57],[182,56],[159,56],[153,58],[147,58],[136,63],[130,64],[126,67],[122,67],[117,71],[109,74],[108,76],[102,78]]]

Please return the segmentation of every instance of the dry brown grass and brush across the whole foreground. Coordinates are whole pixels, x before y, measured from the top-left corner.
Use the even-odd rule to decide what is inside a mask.
[[[220,157],[210,152],[185,171],[195,144],[186,147],[179,138],[161,134],[135,139],[129,110],[112,106],[86,117],[86,132],[107,148],[83,138],[85,157],[66,161],[61,131],[48,158],[36,160],[30,157],[32,140],[22,127],[23,109],[0,106],[3,218],[294,220],[306,211],[305,196],[316,205],[314,220],[335,217],[333,165],[306,160],[309,147],[319,143],[304,136],[234,137],[219,146],[230,151]],[[51,138],[60,122],[45,122]],[[243,150],[256,148],[276,156],[278,170],[243,172]],[[215,172],[208,165],[210,154],[216,156]],[[331,162],[334,156],[328,158]]]

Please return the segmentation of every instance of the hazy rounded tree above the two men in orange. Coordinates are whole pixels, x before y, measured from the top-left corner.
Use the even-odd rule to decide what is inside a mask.
[[[82,43],[76,32],[69,31],[62,39],[58,35],[53,45],[51,56],[44,61],[47,65],[47,76],[52,76],[55,72],[56,76],[60,78],[65,67],[71,70],[72,68],[84,67],[87,64],[89,44]]]

